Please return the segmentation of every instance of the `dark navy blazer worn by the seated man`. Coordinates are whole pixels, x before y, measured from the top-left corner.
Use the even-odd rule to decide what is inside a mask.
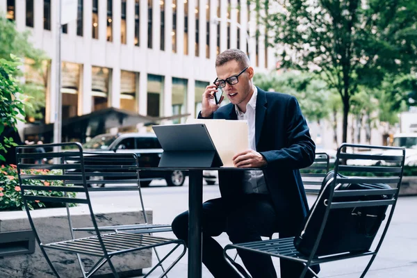
[[[218,108],[212,118],[237,120],[234,105]],[[285,221],[280,236],[294,235],[309,210],[299,169],[313,163],[316,150],[297,99],[258,88],[255,138],[256,151],[268,161],[263,173],[272,202]],[[242,178],[242,171],[219,171],[220,193],[230,204],[243,194]]]

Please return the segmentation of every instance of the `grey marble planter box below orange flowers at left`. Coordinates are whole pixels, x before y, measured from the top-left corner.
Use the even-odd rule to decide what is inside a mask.
[[[72,209],[74,227],[92,227],[90,213],[87,206],[79,206]],[[101,226],[114,224],[140,224],[144,220],[142,213],[133,208],[115,208],[112,206],[94,206],[96,220]],[[44,243],[70,239],[70,229],[65,208],[44,208],[32,211],[38,234]],[[147,218],[152,223],[152,211],[147,210]],[[31,229],[26,211],[8,211],[0,213],[0,233],[7,231],[22,231]],[[88,236],[83,232],[80,236]],[[1,234],[0,234],[1,236]],[[56,267],[61,277],[82,277],[79,263],[75,254],[64,253],[56,250],[47,251],[49,259]],[[97,257],[82,256],[85,264],[94,265]],[[152,265],[152,251],[144,250],[115,256],[113,264],[122,277],[138,276],[142,274],[142,268]],[[55,277],[47,261],[44,259],[38,243],[35,243],[33,254],[21,254],[15,256],[0,257],[1,277]],[[111,273],[108,264],[105,264],[97,275]],[[113,277],[111,275],[110,277]]]

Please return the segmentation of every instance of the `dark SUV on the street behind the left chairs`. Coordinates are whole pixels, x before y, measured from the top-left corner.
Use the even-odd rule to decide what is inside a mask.
[[[153,133],[117,133],[101,134],[83,144],[85,152],[135,153],[140,167],[158,167],[163,149]],[[101,177],[95,177],[97,183],[92,187],[102,187]],[[182,186],[186,172],[174,171],[140,171],[140,186],[149,186],[154,179],[165,179],[167,186]]]

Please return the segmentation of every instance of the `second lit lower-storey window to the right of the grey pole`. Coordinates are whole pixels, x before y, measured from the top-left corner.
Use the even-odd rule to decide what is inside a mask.
[[[110,69],[106,67],[92,67],[91,95],[92,111],[108,108],[108,88]]]

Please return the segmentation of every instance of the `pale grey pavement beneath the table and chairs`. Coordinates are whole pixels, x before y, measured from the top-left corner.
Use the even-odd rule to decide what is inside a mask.
[[[188,208],[188,185],[179,188],[165,186],[165,181],[153,181],[150,188],[143,188],[143,196],[147,208],[154,211],[154,223],[170,223],[179,213]],[[96,193],[97,194],[97,193]],[[93,194],[94,196],[95,194]],[[204,186],[204,200],[219,197],[218,186]],[[313,204],[316,196],[308,197],[309,203]],[[99,193],[92,198],[97,204],[108,204],[111,206],[139,206],[138,197],[132,193]],[[377,259],[370,268],[366,277],[417,277],[417,197],[401,197],[395,210],[393,221],[384,243],[379,251]],[[162,234],[161,234],[162,235]],[[172,233],[165,233],[163,236],[173,237]],[[227,245],[229,239],[226,234],[218,237],[221,245]],[[166,252],[161,247],[161,253]],[[367,263],[368,257],[350,259],[337,263],[322,265],[320,277],[359,277]],[[156,261],[156,258],[154,258]],[[279,262],[275,261],[279,269]],[[144,270],[144,273],[147,269]],[[159,277],[161,272],[156,270],[150,277]],[[181,278],[187,275],[187,255],[181,259],[179,264],[168,275],[170,278]],[[203,277],[213,277],[206,268],[203,270]]]

